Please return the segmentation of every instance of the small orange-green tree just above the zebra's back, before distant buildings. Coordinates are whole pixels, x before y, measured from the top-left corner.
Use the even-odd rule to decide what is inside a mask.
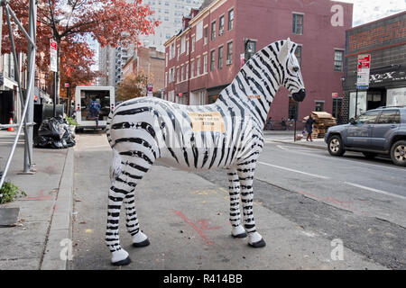
[[[137,74],[128,74],[117,87],[117,101],[125,101],[146,96],[146,86],[153,81],[152,73],[147,76],[142,70]]]

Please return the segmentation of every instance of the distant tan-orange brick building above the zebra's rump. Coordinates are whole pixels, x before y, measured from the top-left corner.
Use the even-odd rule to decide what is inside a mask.
[[[123,66],[123,78],[128,74],[136,74],[143,71],[146,75],[151,75],[153,94],[161,97],[163,91],[165,68],[165,53],[157,51],[154,47],[140,47],[134,51],[134,56],[129,58]]]

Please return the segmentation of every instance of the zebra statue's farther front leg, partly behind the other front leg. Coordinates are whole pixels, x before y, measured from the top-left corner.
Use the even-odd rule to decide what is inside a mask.
[[[240,212],[240,179],[236,168],[228,169],[228,193],[230,194],[230,223],[232,226],[231,236],[234,238],[245,238],[246,232],[241,225]]]

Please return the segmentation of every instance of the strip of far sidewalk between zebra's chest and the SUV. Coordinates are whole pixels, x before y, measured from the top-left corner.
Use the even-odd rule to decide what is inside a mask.
[[[300,145],[309,148],[327,149],[327,143],[324,138],[313,139],[312,142],[306,141],[306,137],[301,140],[294,140],[294,130],[264,130],[265,141],[273,141],[285,144]],[[300,130],[296,134],[301,134]]]

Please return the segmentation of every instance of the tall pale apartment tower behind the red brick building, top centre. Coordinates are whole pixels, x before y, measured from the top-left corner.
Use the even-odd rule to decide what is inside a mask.
[[[141,36],[141,43],[145,47],[155,47],[158,51],[164,52],[163,44],[173,34],[180,31],[182,17],[190,13],[190,9],[198,8],[203,0],[144,0],[143,4],[149,4],[155,12],[152,18],[161,22],[155,34]]]

